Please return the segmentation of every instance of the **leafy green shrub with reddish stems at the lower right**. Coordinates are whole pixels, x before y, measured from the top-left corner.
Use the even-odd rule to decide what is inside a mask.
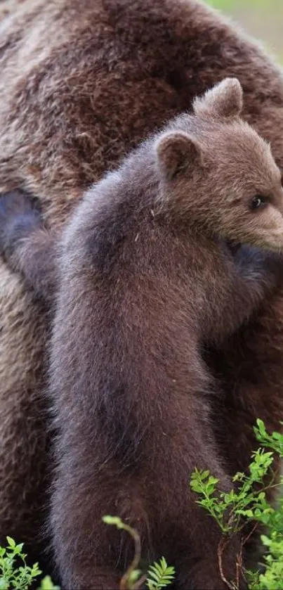
[[[271,482],[265,487],[265,476],[270,474],[274,454],[283,457],[283,435],[279,432],[269,435],[261,420],[257,421],[254,432],[261,447],[252,455],[249,473],[236,473],[233,477],[235,489],[228,493],[219,491],[219,480],[209,471],[197,469],[192,473],[190,487],[199,496],[197,504],[209,512],[223,533],[218,546],[218,567],[228,588],[236,590],[239,576],[244,575],[249,582],[249,590],[283,590],[283,498],[281,495],[274,507],[268,504],[265,496],[270,487],[283,485],[282,476],[277,484],[271,477]],[[263,561],[259,564],[263,571],[251,572],[244,570],[242,551],[251,533],[260,525],[265,527],[265,534],[261,535]],[[222,555],[235,534],[240,534],[242,538],[235,563],[236,579],[227,580]]]

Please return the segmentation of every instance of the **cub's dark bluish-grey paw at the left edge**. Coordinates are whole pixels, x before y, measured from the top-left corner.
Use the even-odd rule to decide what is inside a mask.
[[[0,255],[8,257],[22,238],[41,226],[34,198],[24,191],[0,194]]]

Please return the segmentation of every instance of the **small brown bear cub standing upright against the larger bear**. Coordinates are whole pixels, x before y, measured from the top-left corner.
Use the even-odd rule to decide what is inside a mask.
[[[179,589],[225,589],[221,532],[190,490],[209,469],[232,487],[213,439],[202,347],[218,344],[282,281],[281,175],[225,79],[84,196],[62,238],[28,195],[0,200],[0,250],[53,310],[57,439],[51,506],[63,587],[118,588],[136,527]],[[240,539],[223,554],[236,579]],[[244,578],[241,581],[245,587]]]

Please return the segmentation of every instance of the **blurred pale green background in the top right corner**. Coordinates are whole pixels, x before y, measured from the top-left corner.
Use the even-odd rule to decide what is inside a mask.
[[[283,63],[283,0],[206,0],[232,16]]]

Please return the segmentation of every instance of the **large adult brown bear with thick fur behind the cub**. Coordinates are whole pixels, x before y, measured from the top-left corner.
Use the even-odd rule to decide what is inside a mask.
[[[1,191],[37,195],[51,225],[60,226],[84,188],[126,150],[226,75],[239,78],[244,117],[271,141],[283,169],[282,74],[209,8],[183,0],[8,0],[3,7],[10,14],[0,24]],[[46,322],[5,264],[0,281],[0,536],[35,548],[46,487]],[[280,294],[269,300],[227,351],[221,440],[232,449],[242,442],[230,470],[248,461],[255,418],[272,428],[282,418],[282,306]]]

